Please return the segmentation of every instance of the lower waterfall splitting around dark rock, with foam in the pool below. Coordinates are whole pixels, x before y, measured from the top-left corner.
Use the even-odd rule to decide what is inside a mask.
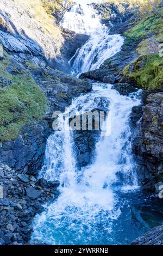
[[[79,113],[83,113],[98,108],[100,101],[97,99],[104,95],[105,107],[111,113],[111,134],[101,137],[97,143],[95,163],[80,172],[72,164],[75,160],[71,131],[68,137],[63,128],[61,138],[55,132],[48,139],[47,170],[42,170],[42,176],[54,180],[60,173],[61,194],[54,203],[47,206],[46,212],[36,216],[33,241],[38,239],[39,242],[53,245],[92,244],[94,241],[94,244],[99,244],[102,236],[107,236],[109,241],[112,220],[121,214],[117,206],[117,186],[114,189],[114,184],[120,184],[120,190],[122,187],[137,185],[128,123],[131,108],[140,104],[139,93],[133,94],[132,98],[121,96],[111,89],[111,85],[95,83],[93,92],[72,102],[70,112],[78,109]],[[67,137],[67,143],[69,140],[68,155],[62,143],[64,136]],[[53,153],[52,157],[49,157],[48,148]],[[54,161],[58,148],[60,157]],[[65,157],[68,159],[67,166]],[[101,233],[99,225],[100,230],[102,225]]]

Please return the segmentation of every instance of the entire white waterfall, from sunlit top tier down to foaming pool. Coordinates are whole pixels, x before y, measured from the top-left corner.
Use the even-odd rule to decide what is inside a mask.
[[[70,22],[67,23],[66,19],[70,19]],[[95,22],[91,22],[90,19],[95,19]],[[86,26],[85,23],[89,25]],[[99,17],[91,7],[73,7],[65,14],[62,26],[87,34],[91,34],[93,29],[95,34],[98,29],[101,30]],[[85,52],[84,48],[90,44],[86,42],[74,60],[74,63],[80,62],[80,54],[84,59],[80,64],[80,71],[88,71],[93,65],[99,66],[104,60],[103,56],[108,58],[109,54],[114,55],[123,43],[119,35],[112,36],[112,39],[106,39],[106,35],[99,38],[101,45],[103,42],[106,47],[99,53],[101,59],[98,58],[96,63],[90,65],[89,58],[82,55]],[[93,38],[90,40],[94,44]],[[106,40],[110,40],[109,46],[105,44]],[[90,47],[92,54],[99,51],[96,44],[97,41]],[[80,72],[78,68],[77,70]],[[96,144],[94,162],[82,170],[76,165],[73,131],[68,127],[68,117],[64,120],[64,115],[60,115],[59,123],[63,123],[64,126],[61,131],[54,132],[48,138],[45,166],[40,173],[40,176],[47,180],[60,180],[60,196],[45,206],[45,212],[35,217],[33,242],[37,239],[40,243],[48,245],[117,243],[114,223],[121,216],[122,206],[118,193],[137,187],[135,162],[131,152],[129,116],[131,108],[140,104],[139,94],[140,92],[122,96],[116,90],[112,90],[110,84],[94,83],[92,92],[73,100],[70,112],[79,111],[79,114],[82,114],[98,109],[102,97],[105,97],[103,107],[109,111],[106,124],[110,125],[111,131],[108,136],[102,133]]]

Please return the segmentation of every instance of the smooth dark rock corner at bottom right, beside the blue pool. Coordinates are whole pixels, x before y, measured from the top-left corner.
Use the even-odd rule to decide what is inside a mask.
[[[163,225],[137,238],[131,245],[163,245]]]

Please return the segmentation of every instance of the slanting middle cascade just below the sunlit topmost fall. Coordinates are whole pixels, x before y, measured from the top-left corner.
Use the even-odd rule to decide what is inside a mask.
[[[70,60],[73,74],[98,69],[106,59],[121,50],[123,42],[121,35],[108,35],[106,32],[92,35]]]

